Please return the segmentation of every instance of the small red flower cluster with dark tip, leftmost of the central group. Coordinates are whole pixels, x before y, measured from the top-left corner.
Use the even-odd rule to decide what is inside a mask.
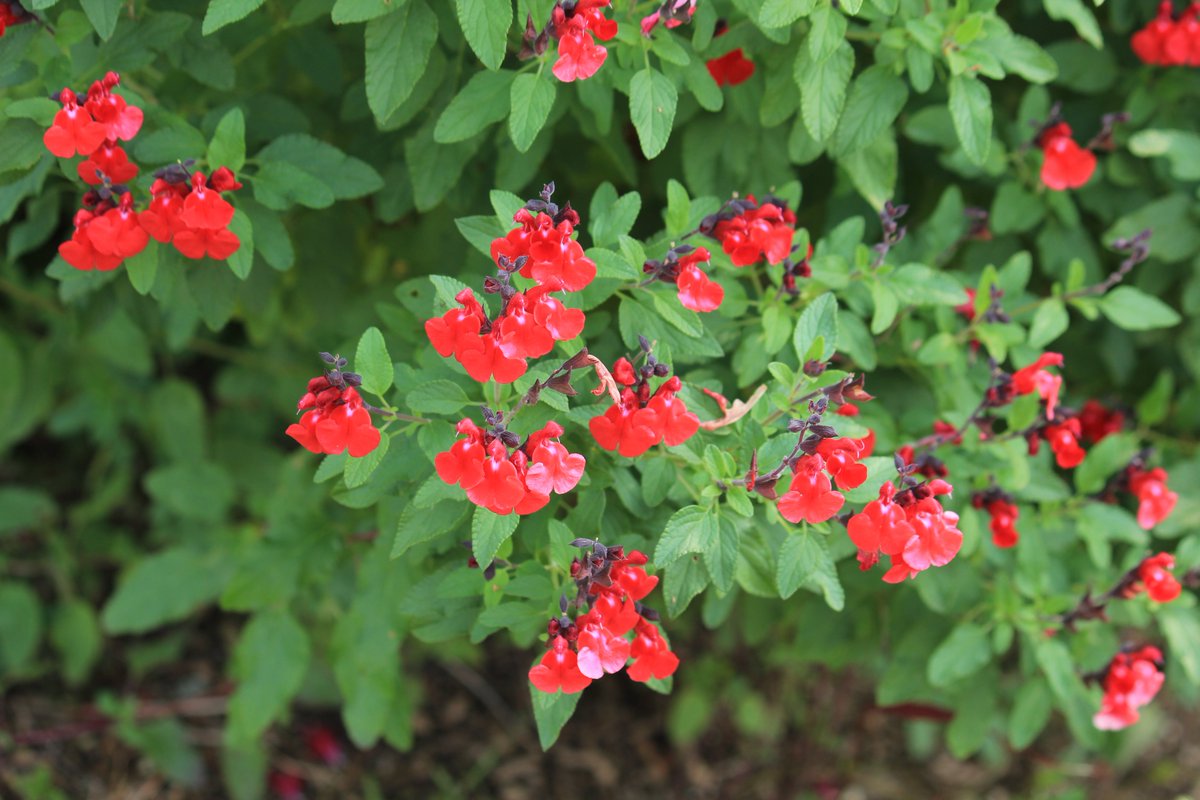
[[[346,359],[322,353],[332,369],[308,381],[296,409],[305,411],[299,422],[288,426],[287,434],[305,450],[336,456],[349,451],[361,458],[379,446],[379,428],[371,422],[370,407],[359,396],[362,378],[343,372]]]

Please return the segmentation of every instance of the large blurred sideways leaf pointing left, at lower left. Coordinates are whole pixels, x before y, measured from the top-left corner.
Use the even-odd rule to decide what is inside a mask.
[[[109,633],[144,633],[184,619],[212,601],[228,576],[224,558],[178,547],[146,557],[126,570],[101,621]]]

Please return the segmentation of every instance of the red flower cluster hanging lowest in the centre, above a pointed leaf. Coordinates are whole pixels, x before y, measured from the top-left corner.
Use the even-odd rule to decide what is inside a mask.
[[[571,563],[578,593],[574,604],[588,610],[572,620],[566,614],[570,603],[562,599],[562,615],[547,625],[547,651],[529,670],[529,681],[542,692],[571,694],[626,664],[626,674],[636,681],[674,674],[679,657],[654,624],[658,614],[641,603],[659,582],[642,569],[646,555],[637,551],[626,555],[619,546],[590,539],[572,545],[584,548],[582,559]],[[632,640],[626,638],[631,632]]]

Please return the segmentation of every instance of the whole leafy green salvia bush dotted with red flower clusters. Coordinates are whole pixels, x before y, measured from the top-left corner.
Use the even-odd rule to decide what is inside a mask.
[[[1198,30],[0,0],[2,687],[53,666],[194,784],[94,690],[217,607],[232,796],[304,793],[264,734],[313,705],[409,747],[426,662],[544,747],[619,672],[757,742],[814,663],[960,758],[1051,709],[1135,746],[1200,687]]]

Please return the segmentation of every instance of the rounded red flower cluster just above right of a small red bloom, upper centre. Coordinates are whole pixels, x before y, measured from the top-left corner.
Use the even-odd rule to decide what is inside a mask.
[[[792,253],[796,213],[780,199],[768,197],[760,205],[748,194],[733,198],[716,213],[704,217],[700,233],[721,242],[733,266],[750,266],[761,260],[781,264]]]

